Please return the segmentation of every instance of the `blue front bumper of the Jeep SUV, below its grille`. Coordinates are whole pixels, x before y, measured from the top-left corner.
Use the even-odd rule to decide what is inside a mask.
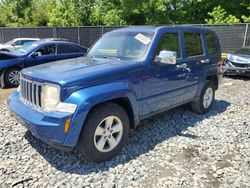
[[[72,118],[72,114],[38,111],[31,105],[24,104],[19,92],[11,95],[8,106],[17,120],[36,138],[60,150],[70,151],[74,148],[65,144],[67,134],[64,132],[65,122]]]

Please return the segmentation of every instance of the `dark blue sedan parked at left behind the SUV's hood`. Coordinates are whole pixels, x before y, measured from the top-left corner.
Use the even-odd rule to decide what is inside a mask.
[[[2,87],[16,87],[20,70],[51,61],[83,56],[86,48],[65,41],[40,40],[15,49],[0,52],[0,83]],[[53,73],[52,73],[53,74]]]

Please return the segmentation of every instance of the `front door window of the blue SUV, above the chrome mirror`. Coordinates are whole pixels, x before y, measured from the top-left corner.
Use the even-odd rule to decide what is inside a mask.
[[[180,43],[178,33],[166,33],[161,37],[156,49],[156,55],[158,55],[162,50],[174,51],[177,53],[177,57],[180,58]]]

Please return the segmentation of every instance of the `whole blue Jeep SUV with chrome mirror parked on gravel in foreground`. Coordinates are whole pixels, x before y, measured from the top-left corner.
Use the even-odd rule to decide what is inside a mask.
[[[142,119],[186,103],[208,112],[219,61],[211,30],[123,28],[101,37],[85,57],[24,69],[8,105],[35,137],[105,161]]]

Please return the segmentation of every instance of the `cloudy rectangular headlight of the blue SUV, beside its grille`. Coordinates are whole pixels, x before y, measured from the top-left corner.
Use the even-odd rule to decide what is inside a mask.
[[[45,84],[42,90],[42,109],[47,112],[54,111],[60,102],[60,87]]]

